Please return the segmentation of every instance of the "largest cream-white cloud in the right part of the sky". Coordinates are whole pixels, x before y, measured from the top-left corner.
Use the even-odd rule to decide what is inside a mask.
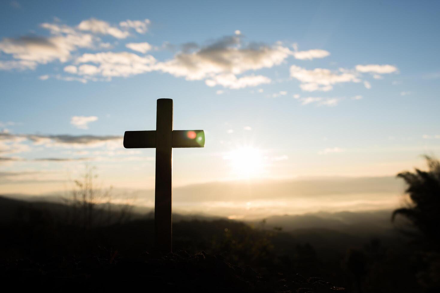
[[[301,81],[301,89],[305,91],[328,91],[333,89],[333,84],[346,82],[360,82],[355,73],[339,70],[341,73],[329,69],[315,68],[312,70],[301,68],[297,65],[290,66],[290,76]]]

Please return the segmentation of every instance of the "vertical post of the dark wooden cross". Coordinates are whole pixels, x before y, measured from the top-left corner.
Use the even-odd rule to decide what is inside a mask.
[[[172,99],[158,99],[154,239],[158,250],[172,251]]]

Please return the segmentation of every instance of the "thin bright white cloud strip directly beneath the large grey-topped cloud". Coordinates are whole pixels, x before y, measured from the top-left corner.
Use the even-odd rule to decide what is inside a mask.
[[[230,89],[239,89],[243,87],[256,87],[264,83],[271,83],[271,79],[262,75],[237,78],[234,74],[219,74],[212,79],[205,80],[205,83],[209,87],[221,85]]]

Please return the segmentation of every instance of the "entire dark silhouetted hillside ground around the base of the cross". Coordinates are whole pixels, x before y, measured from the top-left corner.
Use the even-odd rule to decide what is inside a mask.
[[[317,293],[436,292],[438,284],[432,265],[440,257],[402,238],[180,217],[175,253],[161,255],[151,215],[83,212],[0,197],[0,282],[57,291]]]

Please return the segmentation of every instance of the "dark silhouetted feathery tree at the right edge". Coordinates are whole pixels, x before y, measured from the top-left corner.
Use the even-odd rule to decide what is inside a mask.
[[[440,162],[425,156],[429,170],[415,169],[414,172],[402,172],[397,177],[403,178],[408,187],[405,190],[411,199],[406,207],[392,213],[407,217],[426,239],[434,244],[440,243]]]

